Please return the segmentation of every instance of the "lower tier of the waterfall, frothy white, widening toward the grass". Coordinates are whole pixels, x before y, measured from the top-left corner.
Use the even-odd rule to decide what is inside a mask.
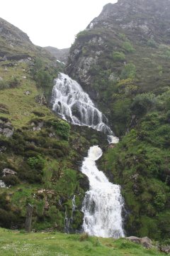
[[[101,157],[102,150],[91,146],[88,153],[81,167],[90,182],[82,207],[84,232],[103,238],[124,237],[120,186],[109,182],[103,172],[98,171],[95,161]]]

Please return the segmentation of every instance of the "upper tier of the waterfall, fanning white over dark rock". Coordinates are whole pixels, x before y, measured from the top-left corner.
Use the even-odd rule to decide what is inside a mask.
[[[92,127],[108,135],[110,143],[118,142],[106,124],[108,119],[94,106],[89,95],[78,82],[60,73],[52,90],[52,110],[73,124]]]

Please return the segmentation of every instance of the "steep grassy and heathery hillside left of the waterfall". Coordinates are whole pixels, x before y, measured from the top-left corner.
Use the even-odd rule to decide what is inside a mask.
[[[102,135],[91,131],[89,138],[87,129],[72,127],[50,110],[62,65],[26,33],[0,22],[0,225],[24,228],[30,203],[35,230],[80,230],[89,183],[79,161],[93,139],[103,143]]]

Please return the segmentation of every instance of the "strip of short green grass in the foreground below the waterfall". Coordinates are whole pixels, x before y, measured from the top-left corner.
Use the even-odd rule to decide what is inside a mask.
[[[86,235],[63,233],[20,233],[0,228],[0,251],[2,256],[14,255],[164,255],[157,250],[148,250],[125,239],[91,238]]]

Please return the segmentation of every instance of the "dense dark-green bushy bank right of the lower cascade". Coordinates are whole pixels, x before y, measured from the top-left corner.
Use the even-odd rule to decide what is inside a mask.
[[[154,240],[169,239],[169,107],[166,94],[137,95],[132,109],[138,121],[135,129],[109,149],[102,168],[111,171],[113,181],[122,185],[128,234],[147,235]],[[167,112],[168,110],[168,112]],[[123,114],[122,114],[123,116]],[[165,228],[166,222],[166,228]]]

